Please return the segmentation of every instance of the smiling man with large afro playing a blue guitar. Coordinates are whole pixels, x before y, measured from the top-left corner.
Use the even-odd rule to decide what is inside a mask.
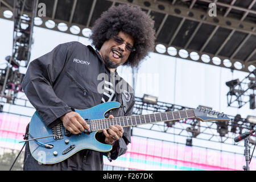
[[[117,101],[121,107],[105,117],[133,113],[133,89],[118,75],[117,67],[138,67],[154,50],[154,21],[138,7],[112,6],[94,23],[90,39],[95,49],[79,42],[60,44],[28,66],[22,88],[47,127],[62,123],[71,134],[90,131],[88,123],[74,109],[88,109],[109,101]],[[36,161],[26,144],[24,170],[102,170],[103,155],[112,161],[125,154],[131,129],[110,126],[96,133],[96,139],[111,144],[112,151],[81,150],[51,165]]]

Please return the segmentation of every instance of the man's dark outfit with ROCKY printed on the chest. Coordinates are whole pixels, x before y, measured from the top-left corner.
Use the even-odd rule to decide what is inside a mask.
[[[88,109],[101,104],[103,92],[99,92],[104,81],[105,64],[100,54],[91,46],[79,42],[60,44],[51,52],[31,61],[22,82],[22,88],[28,100],[38,111],[48,127],[56,125],[60,117],[73,109]],[[114,117],[131,115],[134,106],[133,89],[117,72],[116,98],[121,107],[112,110]],[[108,113],[110,114],[110,113]],[[108,117],[108,115],[106,115]],[[111,159],[125,154],[127,144],[131,142],[130,127],[123,128],[123,137],[114,143],[110,152]],[[104,142],[104,135],[98,133],[98,139]],[[28,149],[28,147],[26,147]],[[26,150],[27,150],[26,149]],[[103,168],[101,152],[84,150],[71,158],[50,166],[36,167],[29,151],[26,151],[24,169],[84,169],[101,170]],[[29,158],[29,159],[28,159]],[[74,159],[75,158],[75,159]],[[86,159],[86,160],[85,160]],[[68,164],[69,163],[69,164]],[[58,166],[58,167],[56,167]]]

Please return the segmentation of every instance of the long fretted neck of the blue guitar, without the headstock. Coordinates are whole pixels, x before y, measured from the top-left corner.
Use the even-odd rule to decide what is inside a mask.
[[[100,131],[109,129],[111,125],[120,125],[122,127],[144,125],[157,122],[167,122],[186,118],[195,118],[193,109],[168,111],[165,113],[129,115],[126,117],[94,119],[90,121],[91,131]]]

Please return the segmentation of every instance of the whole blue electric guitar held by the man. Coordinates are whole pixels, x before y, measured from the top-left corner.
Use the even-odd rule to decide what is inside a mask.
[[[30,121],[27,140],[32,156],[40,163],[55,164],[84,149],[108,152],[112,150],[112,146],[98,142],[95,135],[98,131],[109,129],[111,125],[129,127],[185,118],[197,118],[203,122],[230,120],[223,113],[216,113],[201,107],[181,111],[167,111],[165,113],[105,118],[107,111],[118,107],[120,107],[119,102],[105,102],[85,110],[75,109],[90,126],[90,132],[85,131],[79,135],[70,133],[62,123],[53,128],[48,128],[39,114],[35,112]]]

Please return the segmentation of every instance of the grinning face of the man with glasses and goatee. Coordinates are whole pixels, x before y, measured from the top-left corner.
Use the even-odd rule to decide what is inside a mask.
[[[127,61],[133,47],[134,39],[125,32],[120,31],[116,36],[110,38],[102,45],[100,55],[106,67],[115,69]]]

